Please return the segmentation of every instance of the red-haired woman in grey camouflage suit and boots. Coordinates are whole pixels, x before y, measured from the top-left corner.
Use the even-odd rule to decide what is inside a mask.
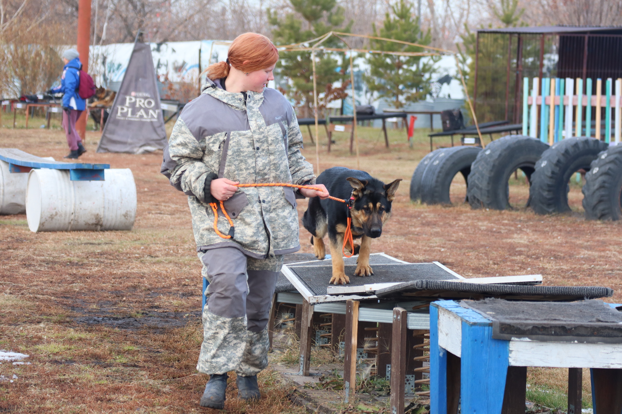
[[[227,372],[237,374],[238,396],[260,397],[257,374],[267,366],[269,310],[283,256],[300,249],[296,198],[328,197],[291,187],[236,187],[243,183],[315,184],[300,154],[294,109],[266,88],[279,53],[256,33],[239,35],[227,60],[207,68],[202,94],[187,104],[164,149],[162,173],[188,195],[202,274],[210,282],[203,309],[197,369],[210,380],[202,407],[225,407]],[[234,222],[218,207],[223,201]],[[220,235],[218,233],[221,233]]]

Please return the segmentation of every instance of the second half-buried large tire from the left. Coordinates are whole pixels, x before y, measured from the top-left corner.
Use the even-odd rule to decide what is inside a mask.
[[[471,165],[467,197],[473,209],[511,209],[508,180],[516,169],[529,182],[536,161],[549,145],[524,135],[508,135],[486,145]],[[527,203],[529,205],[529,203]]]

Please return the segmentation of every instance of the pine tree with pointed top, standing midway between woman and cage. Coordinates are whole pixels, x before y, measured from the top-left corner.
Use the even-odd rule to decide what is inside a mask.
[[[391,6],[391,12],[384,17],[383,27],[378,31],[376,25],[373,25],[373,30],[376,37],[420,45],[429,45],[432,40],[429,30],[425,34],[420,32],[412,5],[406,0],[400,0]],[[369,48],[384,52],[425,52],[421,47],[386,40],[370,40]],[[421,57],[370,53],[366,60],[371,69],[369,75],[364,75],[363,79],[371,91],[378,93],[378,97],[387,99],[396,108],[401,108],[406,102],[424,99],[430,91],[429,77],[436,59],[422,62]]]

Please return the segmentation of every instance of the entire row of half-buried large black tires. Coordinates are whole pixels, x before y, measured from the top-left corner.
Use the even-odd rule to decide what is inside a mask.
[[[622,146],[595,138],[572,137],[549,146],[525,135],[508,135],[486,148],[455,146],[426,155],[411,180],[411,200],[452,204],[456,174],[466,182],[466,199],[474,209],[512,209],[508,180],[520,169],[529,182],[529,200],[537,214],[569,212],[569,181],[585,171],[583,208],[590,220],[622,218]]]

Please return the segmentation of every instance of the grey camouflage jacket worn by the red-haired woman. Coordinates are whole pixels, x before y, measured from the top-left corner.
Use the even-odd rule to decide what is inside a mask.
[[[291,187],[243,187],[226,200],[233,239],[213,230],[209,184],[215,178],[245,183],[315,183],[300,153],[302,135],[292,106],[281,93],[227,92],[208,81],[175,122],[164,149],[162,173],[188,195],[197,251],[235,246],[254,258],[300,249],[298,214]],[[220,203],[219,203],[220,204]],[[218,230],[229,223],[218,207]]]

